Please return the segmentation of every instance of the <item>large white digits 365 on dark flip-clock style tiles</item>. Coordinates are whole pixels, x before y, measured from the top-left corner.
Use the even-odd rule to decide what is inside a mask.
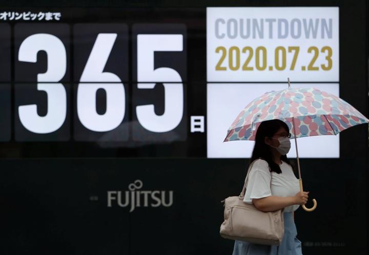
[[[11,93],[16,141],[187,139],[185,25],[18,23],[13,56],[1,28],[0,141]]]

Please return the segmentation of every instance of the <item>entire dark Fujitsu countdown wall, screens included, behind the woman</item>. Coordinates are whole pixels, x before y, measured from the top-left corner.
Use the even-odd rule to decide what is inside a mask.
[[[242,109],[290,78],[369,116],[367,1],[67,2],[0,4],[1,255],[232,254]],[[367,254],[367,137],[297,139],[303,254]]]

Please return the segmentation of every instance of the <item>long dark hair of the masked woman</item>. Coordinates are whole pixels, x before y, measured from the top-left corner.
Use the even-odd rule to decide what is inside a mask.
[[[279,165],[274,162],[271,147],[265,143],[264,138],[274,136],[281,127],[289,133],[288,125],[279,119],[265,120],[260,123],[256,131],[255,146],[250,161],[253,162],[255,159],[262,158],[268,162],[270,171],[278,174],[282,173],[282,171]],[[281,155],[281,160],[291,165],[286,155]]]

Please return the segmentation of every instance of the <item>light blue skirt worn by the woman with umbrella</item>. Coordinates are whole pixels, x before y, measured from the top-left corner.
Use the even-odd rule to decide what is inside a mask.
[[[297,229],[293,213],[283,213],[284,235],[280,245],[254,244],[235,240],[232,255],[302,255],[301,241],[296,238]]]

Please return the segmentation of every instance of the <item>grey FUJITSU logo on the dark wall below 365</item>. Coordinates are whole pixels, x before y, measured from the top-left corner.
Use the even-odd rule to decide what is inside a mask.
[[[120,190],[108,190],[108,207],[114,204],[120,207],[130,205],[131,213],[136,207],[169,207],[173,204],[173,190],[137,190],[142,186],[141,180],[135,180],[128,185],[130,191],[125,191],[124,196]]]

